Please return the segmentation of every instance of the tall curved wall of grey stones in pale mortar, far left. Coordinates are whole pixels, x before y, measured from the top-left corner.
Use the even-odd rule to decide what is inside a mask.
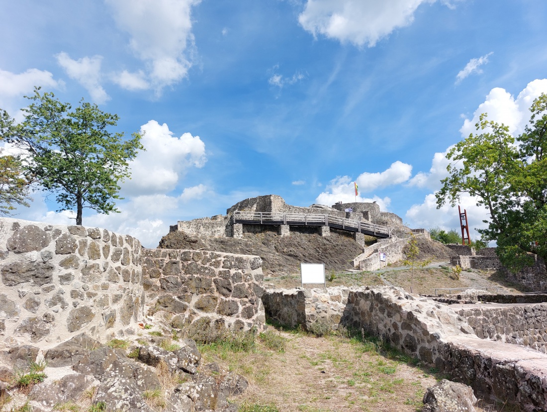
[[[0,218],[0,348],[123,336],[144,316],[141,261],[131,236]]]

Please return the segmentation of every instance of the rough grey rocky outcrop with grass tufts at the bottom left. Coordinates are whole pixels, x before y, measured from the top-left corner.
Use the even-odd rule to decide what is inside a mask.
[[[201,365],[201,355],[191,339],[182,340],[174,351],[152,343],[129,350],[132,358],[125,350],[112,349],[80,334],[48,350],[44,363],[37,348],[18,347],[0,356],[9,359],[9,367],[24,373],[36,361],[48,363],[40,372],[42,381],[26,388],[29,407],[43,412],[56,410],[66,402],[101,404],[103,410],[120,412],[153,412],[157,407],[172,412],[234,412],[237,405],[229,405],[227,398],[248,386],[240,375],[217,365]],[[25,357],[24,362],[18,362],[21,357]],[[2,391],[9,396],[18,386],[3,382]],[[14,397],[5,406],[15,408],[18,402]]]

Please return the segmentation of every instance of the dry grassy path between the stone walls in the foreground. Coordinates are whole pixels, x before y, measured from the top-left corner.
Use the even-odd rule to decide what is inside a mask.
[[[421,410],[426,388],[443,378],[404,356],[389,356],[374,341],[276,334],[287,339],[284,352],[270,350],[260,340],[251,352],[200,348],[204,363],[218,362],[248,379],[247,391],[232,401],[308,412],[414,412]]]

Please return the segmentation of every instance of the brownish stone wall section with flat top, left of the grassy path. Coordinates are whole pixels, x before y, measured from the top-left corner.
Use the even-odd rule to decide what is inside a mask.
[[[264,327],[262,259],[231,253],[145,249],[143,284],[151,312],[174,315],[200,340],[223,329]]]

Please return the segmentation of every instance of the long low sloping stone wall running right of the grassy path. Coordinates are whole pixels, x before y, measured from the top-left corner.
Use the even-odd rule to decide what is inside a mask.
[[[266,291],[270,316],[296,319],[306,327],[312,319],[363,328],[401,351],[463,381],[482,397],[544,410],[547,405],[547,355],[520,345],[480,339],[450,307],[405,293],[400,288],[350,288]],[[275,295],[271,299],[268,295]],[[340,295],[340,302],[337,301]],[[304,310],[304,313],[302,313]],[[283,322],[282,322],[283,323]]]

